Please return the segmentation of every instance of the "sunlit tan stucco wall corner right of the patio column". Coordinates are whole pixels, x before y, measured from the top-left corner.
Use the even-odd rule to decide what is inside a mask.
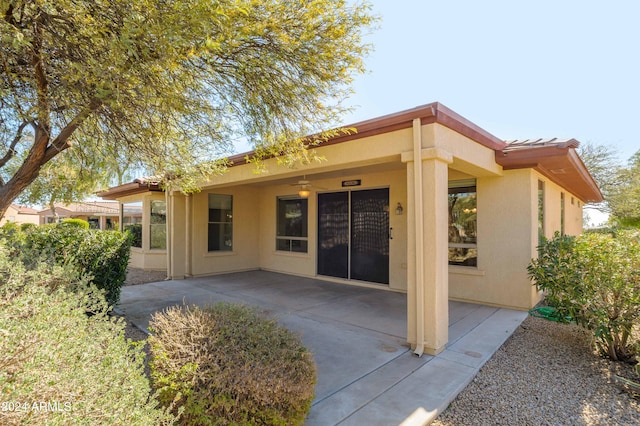
[[[541,294],[526,271],[537,255],[538,180],[545,182],[546,236],[560,231],[561,192],[566,197],[565,232],[582,232],[577,197],[539,173],[508,170],[502,178],[478,178],[478,267],[449,267],[451,299],[522,310],[538,303]]]

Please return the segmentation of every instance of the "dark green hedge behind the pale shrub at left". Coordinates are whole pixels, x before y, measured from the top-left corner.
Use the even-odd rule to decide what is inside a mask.
[[[128,233],[57,224],[25,231],[5,226],[0,236],[6,238],[12,255],[20,261],[28,263],[45,257],[57,265],[75,265],[104,290],[110,305],[120,299],[129,264],[131,236]]]

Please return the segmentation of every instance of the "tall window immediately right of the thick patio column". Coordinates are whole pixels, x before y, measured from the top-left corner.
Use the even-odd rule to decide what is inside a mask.
[[[449,265],[478,266],[476,180],[449,182]]]

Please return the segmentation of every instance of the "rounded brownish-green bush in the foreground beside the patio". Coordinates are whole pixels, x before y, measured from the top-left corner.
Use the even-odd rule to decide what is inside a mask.
[[[304,422],[315,363],[276,320],[240,305],[175,306],[150,328],[152,386],[166,406],[184,409],[182,424]]]

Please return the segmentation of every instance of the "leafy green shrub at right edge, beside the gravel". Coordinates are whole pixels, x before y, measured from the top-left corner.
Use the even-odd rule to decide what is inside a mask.
[[[601,353],[631,360],[640,321],[640,233],[556,235],[528,267],[561,318],[592,330]]]

